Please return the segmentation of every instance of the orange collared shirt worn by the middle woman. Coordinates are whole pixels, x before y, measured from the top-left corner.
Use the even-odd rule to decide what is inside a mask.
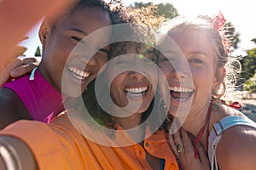
[[[39,169],[151,169],[145,150],[166,160],[165,169],[177,170],[177,161],[166,141],[166,133],[157,131],[139,144],[109,147],[91,142],[73,127],[66,114],[49,125],[19,121],[0,131],[15,136],[32,150]]]

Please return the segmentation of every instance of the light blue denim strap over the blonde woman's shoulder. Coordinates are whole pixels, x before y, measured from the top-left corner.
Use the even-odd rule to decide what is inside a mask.
[[[223,119],[221,119],[219,122],[215,123],[213,125],[213,129],[217,136],[224,133],[224,131],[230,127],[236,126],[236,125],[243,125],[248,127],[255,127],[256,123],[253,122],[251,119],[243,116],[226,116]]]

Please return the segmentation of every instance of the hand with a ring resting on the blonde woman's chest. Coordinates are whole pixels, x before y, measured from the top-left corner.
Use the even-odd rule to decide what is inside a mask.
[[[180,169],[210,169],[207,152],[204,147],[200,143],[197,144],[199,159],[195,159],[194,146],[189,139],[188,133],[183,129],[177,131],[177,133],[174,133],[173,135],[169,135],[169,144],[172,152],[177,157],[177,163]]]

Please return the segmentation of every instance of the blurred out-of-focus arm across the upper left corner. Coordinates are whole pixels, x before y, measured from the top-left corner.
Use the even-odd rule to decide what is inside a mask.
[[[45,14],[54,16],[76,0],[0,1],[0,66],[11,58],[9,52]],[[10,13],[12,11],[12,13]]]

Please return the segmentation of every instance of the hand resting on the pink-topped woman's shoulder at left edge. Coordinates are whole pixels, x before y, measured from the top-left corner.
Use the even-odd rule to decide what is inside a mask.
[[[0,86],[9,82],[12,78],[17,78],[31,72],[41,61],[41,57],[16,58],[3,71],[0,72]]]

